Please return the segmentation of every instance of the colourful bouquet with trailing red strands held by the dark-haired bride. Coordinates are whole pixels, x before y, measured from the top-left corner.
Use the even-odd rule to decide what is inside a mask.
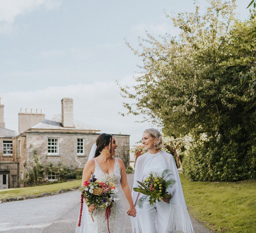
[[[79,187],[79,191],[82,192],[81,194],[81,208],[80,208],[80,215],[78,226],[81,225],[81,218],[82,218],[82,211],[83,211],[83,199],[86,200],[87,206],[94,205],[95,209],[102,208],[106,209],[105,217],[108,222],[108,219],[111,214],[111,206],[114,202],[119,201],[120,198],[116,198],[116,186],[115,186],[115,177],[111,177],[106,175],[104,180],[97,180],[95,175],[92,174],[91,178],[84,182],[84,185]],[[91,218],[94,222],[92,217],[93,211],[91,212]],[[109,231],[109,225],[108,225]]]

